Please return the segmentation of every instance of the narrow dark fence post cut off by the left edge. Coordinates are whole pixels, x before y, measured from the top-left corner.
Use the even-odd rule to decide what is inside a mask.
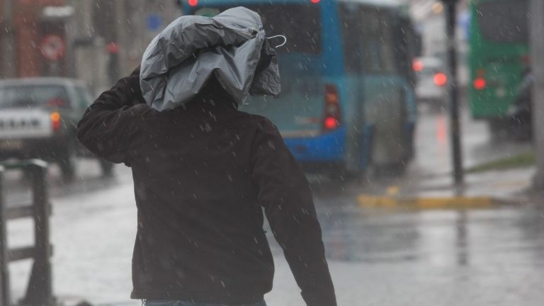
[[[4,200],[4,167],[0,166],[0,303],[10,305],[9,270],[8,270],[8,233],[6,201]]]

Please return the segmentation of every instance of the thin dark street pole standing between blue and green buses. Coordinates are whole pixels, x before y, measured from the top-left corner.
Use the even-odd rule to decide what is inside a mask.
[[[457,89],[457,49],[455,47],[455,28],[458,0],[442,0],[446,6],[446,40],[448,47],[448,96],[450,98],[450,138],[453,159],[453,180],[456,186],[463,185],[463,151],[459,122],[459,96]]]

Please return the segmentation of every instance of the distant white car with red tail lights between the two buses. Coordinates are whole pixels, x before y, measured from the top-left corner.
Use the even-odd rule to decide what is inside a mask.
[[[445,106],[448,76],[443,62],[438,57],[416,57],[413,67],[418,101],[432,103],[431,106]]]

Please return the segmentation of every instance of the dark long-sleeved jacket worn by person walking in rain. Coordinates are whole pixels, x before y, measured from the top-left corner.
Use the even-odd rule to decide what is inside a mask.
[[[154,111],[136,71],[79,122],[83,145],[132,167],[132,298],[261,300],[274,272],[264,208],[307,305],[336,305],[312,194],[278,130],[237,111],[217,81],[202,92],[186,108]]]

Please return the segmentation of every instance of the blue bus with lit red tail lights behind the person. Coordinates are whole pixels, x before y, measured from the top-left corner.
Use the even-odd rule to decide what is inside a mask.
[[[361,174],[412,157],[416,34],[394,0],[182,0],[186,14],[234,6],[261,15],[279,47],[279,97],[242,111],[271,119],[307,171]],[[282,42],[278,40],[278,44]]]

